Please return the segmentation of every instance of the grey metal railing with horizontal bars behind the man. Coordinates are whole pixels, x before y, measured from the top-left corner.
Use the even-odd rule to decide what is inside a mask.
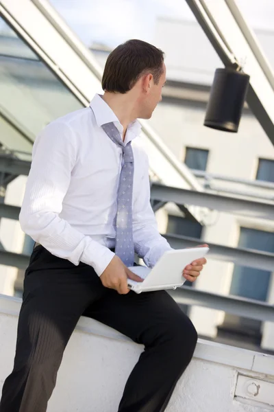
[[[207,194],[205,192],[201,193],[192,190],[178,189],[177,187],[166,187],[155,182],[151,185],[151,199],[161,202],[162,206],[170,201],[177,205],[183,205],[184,203],[201,206],[206,205],[206,207],[212,209],[228,210],[230,213],[240,214],[242,212],[245,216],[247,210],[249,210],[251,216],[260,216],[260,218],[274,220],[274,207],[272,203],[247,201],[245,199],[229,198],[228,196],[218,196],[216,194]],[[18,219],[19,211],[19,207],[0,205],[0,216]],[[201,243],[201,240],[199,239],[177,236],[171,233],[164,233],[163,236],[174,249],[195,247],[197,244]],[[212,243],[209,243],[209,246],[209,257],[214,260],[260,268],[265,271],[274,271],[274,253],[225,247],[220,244]],[[4,265],[25,269],[29,262],[29,255],[19,255],[0,249],[0,262]],[[227,313],[237,314],[238,316],[251,319],[274,322],[274,307],[266,302],[244,299],[241,297],[217,295],[195,288],[188,288],[186,286],[171,291],[170,293],[179,304],[204,306],[207,308],[224,310]]]

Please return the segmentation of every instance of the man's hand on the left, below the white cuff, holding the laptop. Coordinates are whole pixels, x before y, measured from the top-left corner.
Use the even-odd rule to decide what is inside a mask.
[[[129,293],[127,287],[127,278],[142,282],[142,279],[129,271],[129,268],[123,264],[118,256],[114,256],[110,264],[105,268],[100,276],[101,282],[105,288],[115,289],[120,295]]]

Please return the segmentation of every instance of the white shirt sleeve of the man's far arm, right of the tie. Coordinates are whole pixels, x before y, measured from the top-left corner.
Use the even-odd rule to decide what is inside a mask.
[[[132,216],[134,248],[138,256],[152,268],[171,246],[157,227],[157,221],[150,204],[149,161],[146,157],[146,170],[142,176],[140,193],[136,196]]]

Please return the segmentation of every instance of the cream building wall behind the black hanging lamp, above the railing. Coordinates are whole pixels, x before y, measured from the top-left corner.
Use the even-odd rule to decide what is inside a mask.
[[[256,177],[259,157],[274,160],[274,147],[253,115],[243,115],[238,133],[203,126],[205,108],[162,102],[151,125],[179,159],[184,147],[210,150],[207,172],[242,179]]]

